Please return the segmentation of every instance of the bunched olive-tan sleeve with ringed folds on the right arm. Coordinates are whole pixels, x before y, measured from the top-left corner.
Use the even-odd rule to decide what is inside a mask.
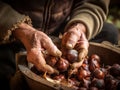
[[[108,14],[108,6],[109,0],[74,0],[70,21],[65,29],[80,22],[86,26],[87,39],[93,38],[101,31]]]

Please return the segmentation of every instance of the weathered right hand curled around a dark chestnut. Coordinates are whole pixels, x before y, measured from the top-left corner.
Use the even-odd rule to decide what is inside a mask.
[[[67,49],[75,48],[79,52],[79,61],[72,64],[73,68],[78,68],[82,65],[84,58],[88,54],[89,43],[86,38],[85,26],[81,23],[72,25],[67,29],[62,38],[62,45]]]

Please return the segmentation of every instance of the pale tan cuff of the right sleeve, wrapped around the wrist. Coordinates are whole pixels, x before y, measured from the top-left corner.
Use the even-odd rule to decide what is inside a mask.
[[[75,17],[72,17],[71,20],[68,22],[67,26],[65,27],[65,30],[73,23],[79,22],[83,23],[86,26],[86,37],[87,39],[91,39],[96,35],[97,30],[99,29],[99,22],[97,20],[97,17],[95,17],[94,13],[88,13],[87,12],[82,12]],[[92,14],[92,15],[90,15]],[[93,17],[92,17],[93,16]],[[96,25],[94,25],[96,24]]]

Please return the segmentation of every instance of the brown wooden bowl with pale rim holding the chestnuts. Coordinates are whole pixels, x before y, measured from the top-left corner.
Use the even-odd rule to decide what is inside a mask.
[[[120,48],[108,44],[90,43],[89,55],[98,54],[104,65],[120,64]],[[18,69],[24,75],[30,90],[74,90],[66,86],[51,83],[31,71],[31,65],[26,60],[26,52],[16,55]]]

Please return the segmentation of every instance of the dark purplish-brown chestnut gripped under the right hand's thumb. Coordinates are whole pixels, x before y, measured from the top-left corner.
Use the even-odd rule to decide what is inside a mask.
[[[70,49],[67,51],[67,59],[70,63],[78,61],[78,52],[75,49]]]

